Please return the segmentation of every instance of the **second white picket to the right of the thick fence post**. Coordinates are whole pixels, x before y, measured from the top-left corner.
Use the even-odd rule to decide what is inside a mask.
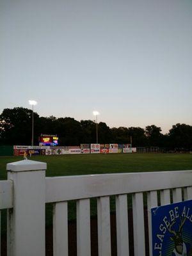
[[[89,199],[77,201],[77,256],[91,256]]]

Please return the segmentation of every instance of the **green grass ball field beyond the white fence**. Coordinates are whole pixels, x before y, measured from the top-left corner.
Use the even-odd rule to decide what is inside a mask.
[[[6,179],[6,164],[22,157],[0,157],[0,179]],[[192,170],[192,154],[88,154],[63,156],[33,156],[31,160],[47,163],[47,177],[121,172],[155,172]],[[131,199],[129,198],[129,202]],[[90,200],[91,215],[97,212],[96,199]],[[115,210],[115,197],[111,196],[111,211]],[[6,212],[3,230],[6,229]],[[76,218],[76,203],[69,202],[68,218]],[[46,225],[52,224],[52,205],[46,206]]]

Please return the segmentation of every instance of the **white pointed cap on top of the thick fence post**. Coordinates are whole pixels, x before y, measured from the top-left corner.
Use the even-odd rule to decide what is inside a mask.
[[[47,170],[47,163],[32,160],[22,160],[6,164],[6,170],[11,172]]]

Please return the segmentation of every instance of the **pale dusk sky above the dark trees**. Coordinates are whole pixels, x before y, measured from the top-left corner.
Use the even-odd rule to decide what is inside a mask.
[[[191,0],[0,0],[0,114],[192,125]]]

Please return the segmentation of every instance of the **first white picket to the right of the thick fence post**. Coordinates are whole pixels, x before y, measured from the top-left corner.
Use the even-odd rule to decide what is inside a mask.
[[[53,208],[53,255],[68,256],[67,202],[58,202]]]

